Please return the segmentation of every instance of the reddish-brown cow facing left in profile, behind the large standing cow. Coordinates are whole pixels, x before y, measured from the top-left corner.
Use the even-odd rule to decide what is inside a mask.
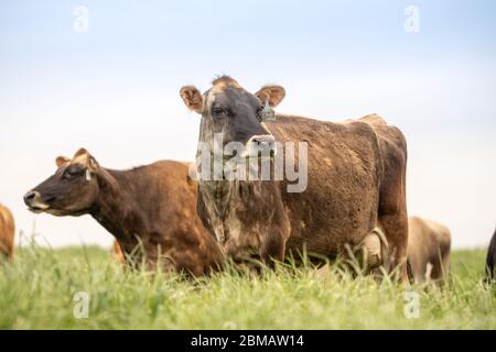
[[[57,157],[55,175],[24,196],[34,212],[90,215],[119,242],[127,262],[201,275],[223,255],[196,210],[188,165],[163,161],[131,170],[100,167],[85,150]],[[136,256],[138,255],[138,257]]]

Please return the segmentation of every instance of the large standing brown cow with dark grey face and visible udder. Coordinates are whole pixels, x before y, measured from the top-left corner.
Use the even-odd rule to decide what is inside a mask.
[[[384,232],[391,264],[406,279],[403,134],[378,116],[333,123],[277,114],[272,122],[271,108],[284,95],[279,86],[252,95],[226,76],[214,80],[204,95],[192,86],[181,89],[186,107],[202,114],[197,208],[205,227],[235,261],[256,257],[269,266],[272,260],[303,249],[334,257],[346,245],[359,245],[367,235]],[[274,168],[274,156],[284,152],[277,145],[287,142],[308,143],[308,158],[294,151],[295,164],[308,169],[308,185],[301,191],[291,188],[288,177],[252,180],[227,177],[226,172],[219,177],[215,165],[213,172],[212,165],[204,165],[206,147],[214,158],[216,148],[236,147],[230,156],[242,162],[262,155],[260,164],[269,156]],[[226,162],[225,156],[220,160]]]

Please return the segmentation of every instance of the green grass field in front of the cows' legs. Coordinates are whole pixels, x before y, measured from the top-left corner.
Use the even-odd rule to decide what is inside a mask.
[[[122,271],[98,248],[30,246],[0,265],[0,329],[496,329],[496,287],[481,284],[484,255],[454,252],[440,290],[353,279],[337,267],[193,282]],[[78,319],[80,292],[89,309]],[[418,318],[405,314],[408,292],[418,293]]]

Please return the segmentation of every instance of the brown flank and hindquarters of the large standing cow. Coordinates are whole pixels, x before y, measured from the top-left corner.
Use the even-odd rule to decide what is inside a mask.
[[[267,125],[278,141],[309,143],[306,191],[281,193],[292,219],[287,248],[305,245],[333,256],[378,227],[392,265],[402,265],[408,222],[407,146],[401,132],[377,116],[343,123],[278,116]],[[284,183],[280,186],[285,188]],[[405,266],[402,271],[405,276]]]

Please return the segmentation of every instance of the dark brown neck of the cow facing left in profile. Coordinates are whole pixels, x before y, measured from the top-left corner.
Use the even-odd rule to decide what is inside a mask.
[[[127,172],[101,169],[97,175],[99,193],[90,215],[118,241],[139,244],[144,233],[140,207],[136,202]]]

